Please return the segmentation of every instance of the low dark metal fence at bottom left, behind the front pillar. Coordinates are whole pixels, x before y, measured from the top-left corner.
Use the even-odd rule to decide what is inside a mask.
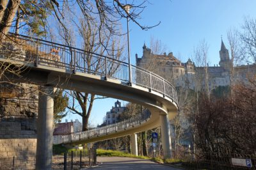
[[[45,157],[44,157],[45,158]],[[81,169],[97,164],[97,151],[71,151],[63,155],[49,155],[51,169]],[[36,155],[0,157],[0,169],[36,169]]]

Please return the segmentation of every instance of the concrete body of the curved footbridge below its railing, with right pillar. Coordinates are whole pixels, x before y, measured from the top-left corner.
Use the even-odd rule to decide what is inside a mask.
[[[19,62],[15,62],[15,64],[24,65],[24,63]],[[124,135],[136,134],[138,132],[161,126],[164,157],[168,158],[171,156],[168,120],[172,120],[177,114],[177,104],[173,102],[171,98],[163,97],[163,95],[155,91],[149,91],[148,88],[142,88],[141,86],[136,86],[134,84],[129,86],[127,82],[120,80],[106,79],[106,77],[100,77],[98,75],[88,73],[72,73],[69,70],[52,68],[50,66],[34,66],[33,63],[27,63],[26,69],[24,68],[24,70],[19,73],[19,76],[13,75],[12,73],[6,73],[5,75],[8,77],[8,81],[12,82],[26,82],[40,86],[49,86],[52,88],[94,93],[96,95],[118,98],[132,103],[144,105],[151,112],[151,118],[147,122],[142,123],[140,126],[127,128],[112,134],[84,139],[82,141],[74,141],[72,143],[82,144],[101,141]],[[51,104],[51,102],[49,104]],[[45,105],[45,107],[49,107],[49,105]],[[48,111],[45,113],[39,112],[39,114],[53,114],[53,111]],[[40,116],[38,116],[38,118],[40,118]],[[49,121],[49,118],[51,118],[51,116],[44,116],[44,118],[42,118],[40,121]],[[41,127],[38,130],[45,129]],[[52,134],[51,128],[48,128],[47,130],[48,134]],[[45,134],[45,132],[43,134]],[[45,142],[42,136],[38,137],[38,140],[38,144]],[[52,139],[47,138],[47,140],[48,145],[52,143]],[[43,148],[42,150],[47,150],[47,148]]]

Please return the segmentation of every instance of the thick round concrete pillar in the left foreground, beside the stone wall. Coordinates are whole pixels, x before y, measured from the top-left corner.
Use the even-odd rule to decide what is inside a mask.
[[[53,130],[53,88],[40,88],[38,100],[36,169],[51,169]]]

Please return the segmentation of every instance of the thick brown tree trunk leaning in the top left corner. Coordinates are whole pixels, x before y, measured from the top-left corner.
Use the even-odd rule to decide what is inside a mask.
[[[8,2],[0,22],[0,40],[3,40],[3,38],[5,38],[5,35],[8,34],[10,26],[12,26],[13,19],[19,8],[19,4],[20,4],[20,0],[10,0]],[[1,13],[0,13],[0,17],[1,17]]]

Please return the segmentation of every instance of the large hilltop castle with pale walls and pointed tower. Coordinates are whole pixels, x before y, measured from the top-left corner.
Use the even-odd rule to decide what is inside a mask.
[[[152,72],[164,77],[172,82],[175,87],[186,89],[206,88],[209,86],[211,91],[219,86],[230,86],[232,61],[228,54],[228,49],[221,40],[220,62],[219,66],[196,66],[195,63],[188,59],[182,63],[170,52],[168,55],[153,54],[151,49],[143,45],[143,56],[138,58],[136,54],[136,65],[146,68]],[[151,68],[150,68],[151,65]],[[234,82],[248,81],[248,74],[256,73],[256,65],[234,66]]]

